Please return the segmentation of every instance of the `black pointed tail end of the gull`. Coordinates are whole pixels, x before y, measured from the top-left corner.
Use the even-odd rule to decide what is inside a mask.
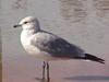
[[[98,58],[98,57],[93,56],[93,55],[89,55],[89,54],[85,54],[85,58],[84,59],[92,60],[92,61],[97,61],[97,62],[100,62],[100,63],[105,65],[105,60],[104,59]]]

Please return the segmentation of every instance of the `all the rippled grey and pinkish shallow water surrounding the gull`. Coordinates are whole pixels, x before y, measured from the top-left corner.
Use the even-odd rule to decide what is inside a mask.
[[[3,82],[40,82],[43,62],[27,55],[13,28],[26,15],[37,16],[41,28],[55,33],[106,65],[78,60],[50,61],[50,82],[109,82],[108,0],[2,0]]]

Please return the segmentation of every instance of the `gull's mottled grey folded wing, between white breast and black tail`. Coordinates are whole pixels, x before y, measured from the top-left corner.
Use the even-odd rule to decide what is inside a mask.
[[[52,57],[74,58],[85,56],[83,49],[68,43],[63,38],[48,33],[40,33],[40,38],[32,44],[37,46],[40,50],[49,52]]]

